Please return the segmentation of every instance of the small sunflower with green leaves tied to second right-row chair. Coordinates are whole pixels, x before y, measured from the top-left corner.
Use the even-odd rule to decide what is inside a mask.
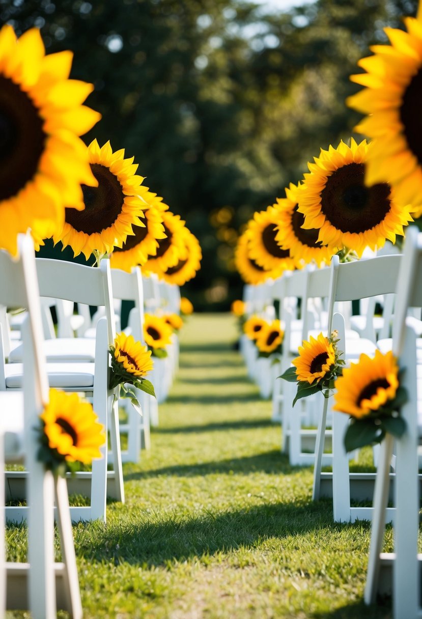
[[[290,383],[297,383],[298,391],[293,405],[302,397],[311,396],[322,391],[324,397],[331,395],[335,379],[342,374],[344,361],[340,358],[342,352],[337,348],[337,331],[330,337],[320,333],[315,339],[309,337],[299,346],[299,357],[293,359],[293,368],[288,368],[282,376]]]

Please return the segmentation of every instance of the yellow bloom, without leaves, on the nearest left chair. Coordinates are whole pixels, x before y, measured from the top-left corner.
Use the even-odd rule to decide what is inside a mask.
[[[48,445],[67,462],[89,464],[100,458],[105,443],[104,428],[89,402],[80,400],[77,393],[50,389],[50,402],[40,415]]]

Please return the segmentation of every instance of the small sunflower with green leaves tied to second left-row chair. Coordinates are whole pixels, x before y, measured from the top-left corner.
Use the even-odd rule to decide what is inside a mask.
[[[155,396],[152,383],[145,378],[153,368],[151,351],[147,350],[146,346],[136,342],[133,335],[121,332],[116,335],[114,346],[110,347],[110,355],[109,389],[120,385],[120,397],[131,397],[136,409],[138,404],[136,394],[127,387],[127,384]]]

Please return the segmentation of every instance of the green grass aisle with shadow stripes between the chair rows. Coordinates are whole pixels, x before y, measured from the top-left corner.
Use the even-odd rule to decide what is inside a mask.
[[[280,454],[235,340],[227,315],[187,321],[152,451],[124,465],[126,504],[74,527],[85,619],[390,617],[389,600],[362,600],[368,522],[334,524],[330,501],[312,503],[312,471]],[[25,560],[25,527],[7,536]]]

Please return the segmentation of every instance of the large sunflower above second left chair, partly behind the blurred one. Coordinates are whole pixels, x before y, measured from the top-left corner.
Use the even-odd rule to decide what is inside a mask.
[[[75,256],[82,252],[87,259],[93,251],[105,254],[113,246],[121,247],[127,235],[133,235],[132,225],[145,225],[139,217],[144,217],[141,196],[147,192],[141,186],[144,178],[136,175],[133,157],[124,159],[124,149],[113,153],[110,142],[100,148],[94,140],[88,155],[98,187],[82,185],[85,209],[66,209],[64,227],[53,235],[54,243],[70,245]]]

